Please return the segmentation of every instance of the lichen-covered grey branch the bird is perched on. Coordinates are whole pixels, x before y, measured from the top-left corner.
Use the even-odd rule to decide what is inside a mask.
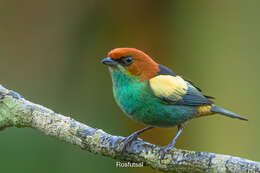
[[[208,152],[174,149],[160,159],[159,146],[138,139],[121,153],[124,139],[94,129],[20,97],[0,85],[0,129],[29,127],[83,150],[164,172],[260,172],[260,162]]]

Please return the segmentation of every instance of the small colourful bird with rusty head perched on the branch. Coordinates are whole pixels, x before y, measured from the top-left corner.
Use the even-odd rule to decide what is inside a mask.
[[[119,107],[130,118],[147,125],[123,140],[122,151],[140,133],[154,127],[178,128],[172,142],[161,148],[165,154],[174,147],[184,123],[190,119],[219,113],[247,120],[214,105],[214,98],[203,95],[191,81],[157,64],[147,54],[135,48],[113,49],[102,63],[108,66],[114,97]]]

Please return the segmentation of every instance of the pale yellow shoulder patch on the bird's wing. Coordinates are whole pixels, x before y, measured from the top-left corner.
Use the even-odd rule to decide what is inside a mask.
[[[187,83],[180,76],[159,75],[150,79],[150,86],[157,97],[177,101],[188,90]]]

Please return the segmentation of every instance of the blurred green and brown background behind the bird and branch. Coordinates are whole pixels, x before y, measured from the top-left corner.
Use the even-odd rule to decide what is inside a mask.
[[[0,83],[58,113],[113,135],[142,128],[113,100],[100,60],[135,47],[197,84],[218,105],[249,118],[190,121],[176,147],[260,161],[260,22],[257,0],[1,0]],[[165,145],[176,129],[141,135]],[[155,172],[116,168],[33,129],[0,133],[2,172]]]

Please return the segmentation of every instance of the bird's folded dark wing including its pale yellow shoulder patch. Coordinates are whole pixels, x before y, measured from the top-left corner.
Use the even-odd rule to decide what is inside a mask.
[[[200,106],[213,102],[205,97],[191,83],[176,75],[168,68],[159,65],[161,71],[150,79],[153,93],[168,104]]]

